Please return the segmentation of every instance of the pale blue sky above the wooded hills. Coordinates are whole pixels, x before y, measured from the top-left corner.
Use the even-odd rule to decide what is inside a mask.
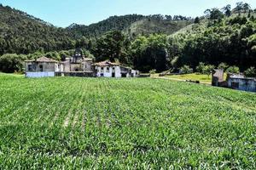
[[[242,0],[0,0],[55,26],[90,25],[113,15],[181,14],[201,16],[207,8],[235,7]],[[256,0],[243,0],[256,8]]]

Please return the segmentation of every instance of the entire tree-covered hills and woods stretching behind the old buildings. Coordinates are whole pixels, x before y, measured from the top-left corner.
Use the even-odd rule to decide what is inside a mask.
[[[20,63],[38,54],[62,59],[70,55],[71,48],[84,48],[86,56],[96,61],[110,59],[143,72],[189,73],[203,62],[207,73],[225,63],[255,75],[256,13],[247,3],[237,3],[233,9],[230,5],[207,9],[193,24],[191,18],[180,15],[131,14],[67,29],[49,26],[12,8],[1,6],[0,12],[0,29],[7,28],[0,33],[0,54],[19,54]],[[29,44],[34,44],[33,48]],[[0,57],[0,64],[7,56],[14,54]],[[8,65],[0,65],[1,71],[20,71],[20,66],[11,65],[16,58],[11,59]]]

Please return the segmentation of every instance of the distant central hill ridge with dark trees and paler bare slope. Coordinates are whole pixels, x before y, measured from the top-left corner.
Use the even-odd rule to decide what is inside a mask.
[[[190,17],[181,15],[163,16],[154,14],[143,16],[139,14],[127,14],[124,16],[112,16],[90,26],[73,24],[67,27],[76,37],[98,37],[108,31],[123,31],[129,37],[149,35],[151,33],[172,34],[175,31],[191,24]]]

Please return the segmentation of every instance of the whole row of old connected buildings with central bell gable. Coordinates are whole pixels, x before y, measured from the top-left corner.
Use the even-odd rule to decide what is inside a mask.
[[[76,49],[73,56],[58,62],[41,57],[26,60],[26,77],[138,77],[139,71],[110,61],[93,62]]]

